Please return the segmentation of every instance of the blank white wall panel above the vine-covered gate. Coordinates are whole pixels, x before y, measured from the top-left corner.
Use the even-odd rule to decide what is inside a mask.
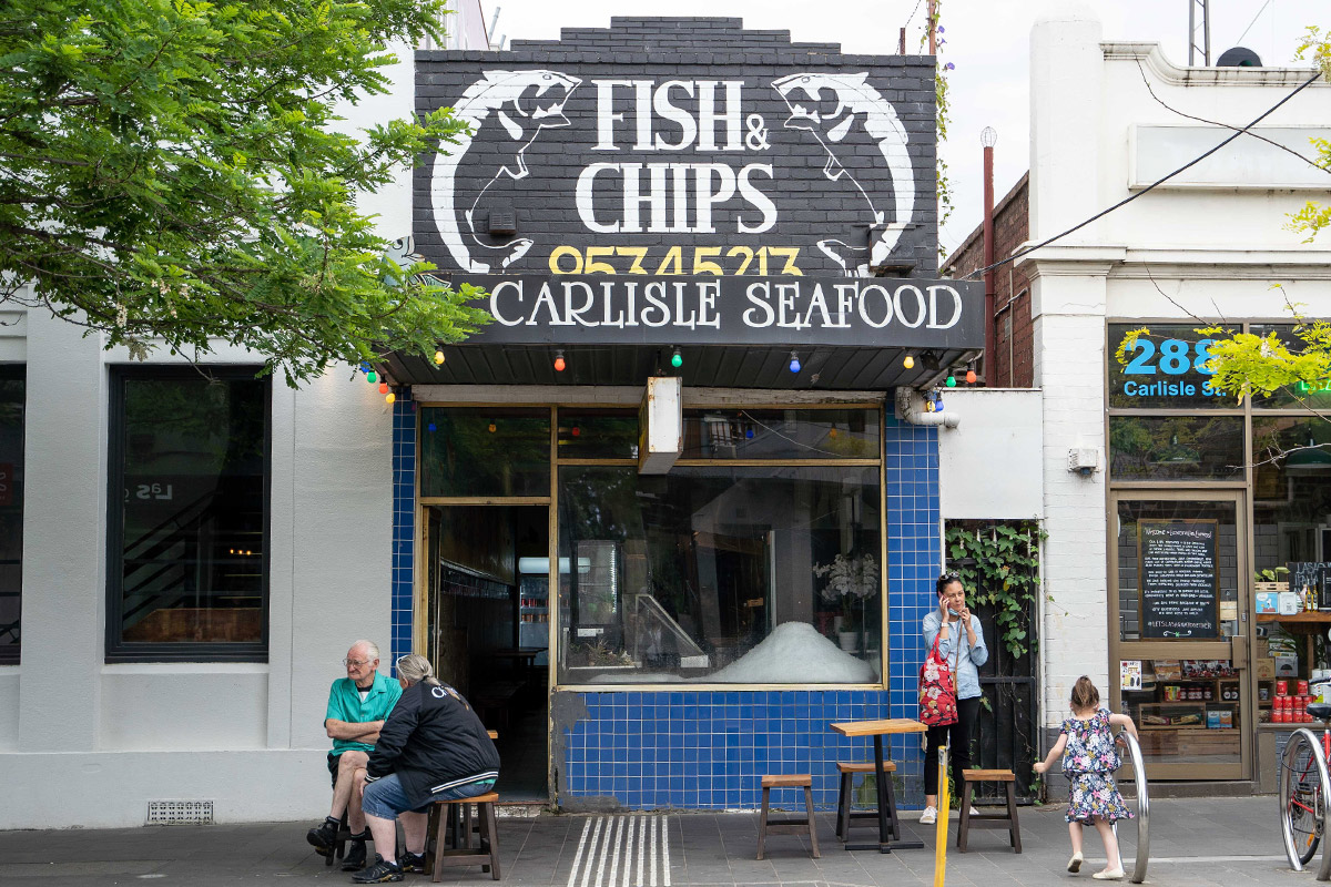
[[[1042,517],[1041,392],[966,388],[945,391],[944,403],[961,426],[938,431],[942,519]]]

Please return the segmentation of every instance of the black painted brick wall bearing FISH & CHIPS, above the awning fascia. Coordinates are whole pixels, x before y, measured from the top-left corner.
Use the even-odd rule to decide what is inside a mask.
[[[474,129],[415,168],[421,254],[474,274],[715,262],[840,278],[872,259],[934,275],[929,57],[841,53],[739,19],[611,21],[511,52],[417,53],[417,110],[453,106]],[[516,231],[491,235],[507,213]]]

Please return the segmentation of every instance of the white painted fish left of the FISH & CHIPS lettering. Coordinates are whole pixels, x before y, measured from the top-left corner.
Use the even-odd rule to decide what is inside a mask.
[[[484,198],[494,185],[502,178],[519,180],[527,177],[527,158],[524,152],[540,136],[543,129],[567,126],[564,117],[564,102],[574,89],[582,84],[578,77],[570,77],[555,70],[487,70],[476,82],[471,84],[454,108],[459,120],[469,124],[471,133],[458,138],[451,153],[443,152],[434,158],[434,218],[443,238],[445,246],[458,265],[473,274],[486,274],[495,265],[499,270],[526,255],[532,241],[519,237],[507,243],[490,243],[478,237],[476,231],[476,205]],[[494,177],[476,194],[476,198],[467,207],[465,217],[467,221],[466,237],[458,226],[457,207],[454,199],[457,194],[458,164],[482,129],[488,122],[498,124],[511,142],[514,156],[504,161],[495,170]],[[488,237],[488,234],[486,234]],[[479,254],[473,257],[473,250],[488,250],[495,255]]]

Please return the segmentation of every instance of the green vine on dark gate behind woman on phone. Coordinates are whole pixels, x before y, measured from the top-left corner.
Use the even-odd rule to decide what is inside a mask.
[[[1030,613],[1040,594],[1040,544],[1046,533],[1038,524],[1020,521],[949,525],[948,567],[961,577],[973,602],[989,604],[1000,640],[1013,657],[1037,648]]]

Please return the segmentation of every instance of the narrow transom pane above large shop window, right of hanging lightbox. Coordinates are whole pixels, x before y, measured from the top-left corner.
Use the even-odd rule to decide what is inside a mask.
[[[683,459],[877,459],[876,410],[685,410]]]

